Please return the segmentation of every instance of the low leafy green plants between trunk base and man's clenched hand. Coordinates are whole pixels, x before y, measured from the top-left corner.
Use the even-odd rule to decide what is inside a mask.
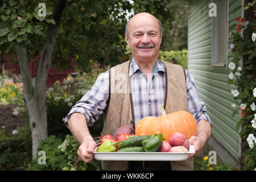
[[[45,164],[40,164],[42,156],[37,156],[32,166],[27,168],[27,171],[95,171],[101,170],[101,162],[93,160],[92,163],[78,162],[75,167],[73,164],[78,159],[77,150],[80,144],[71,135],[66,135],[65,140],[54,135],[40,142],[39,151],[44,151],[46,154]]]

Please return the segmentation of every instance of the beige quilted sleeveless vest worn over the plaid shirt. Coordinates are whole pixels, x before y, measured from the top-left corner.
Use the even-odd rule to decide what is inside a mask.
[[[116,65],[109,71],[109,101],[105,110],[102,135],[113,133],[118,127],[129,125],[134,127],[132,94],[129,93],[129,68],[131,61]],[[180,65],[167,63],[166,94],[164,109],[167,113],[188,111],[185,70]],[[104,170],[127,170],[127,161],[102,161]],[[172,170],[193,170],[193,158],[180,162],[171,162]]]

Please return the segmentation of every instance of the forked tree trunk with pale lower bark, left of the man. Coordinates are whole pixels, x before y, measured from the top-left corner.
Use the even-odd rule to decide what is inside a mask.
[[[30,69],[28,67],[27,49],[18,45],[16,53],[19,60],[20,75],[23,82],[23,97],[30,118],[30,128],[32,133],[32,159],[36,158],[40,141],[47,138],[47,99],[46,86],[49,68],[51,67],[52,52],[56,43],[57,34],[60,27],[60,18],[64,11],[67,0],[56,1],[53,19],[55,25],[48,24],[46,40],[38,72],[36,74],[35,88],[32,85]]]

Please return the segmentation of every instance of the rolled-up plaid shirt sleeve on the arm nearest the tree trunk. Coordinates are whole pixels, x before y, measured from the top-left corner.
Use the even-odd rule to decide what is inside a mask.
[[[107,106],[106,102],[109,97],[109,71],[101,73],[92,88],[71,108],[65,125],[68,127],[68,119],[73,113],[81,113],[86,117],[87,125],[93,126]],[[69,129],[69,127],[68,127]]]

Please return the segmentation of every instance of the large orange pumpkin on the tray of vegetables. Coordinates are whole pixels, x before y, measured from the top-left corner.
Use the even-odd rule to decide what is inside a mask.
[[[135,127],[136,135],[163,134],[164,140],[175,132],[183,133],[186,139],[196,134],[196,121],[192,114],[187,111],[177,111],[166,114],[162,106],[162,116],[144,117]]]

